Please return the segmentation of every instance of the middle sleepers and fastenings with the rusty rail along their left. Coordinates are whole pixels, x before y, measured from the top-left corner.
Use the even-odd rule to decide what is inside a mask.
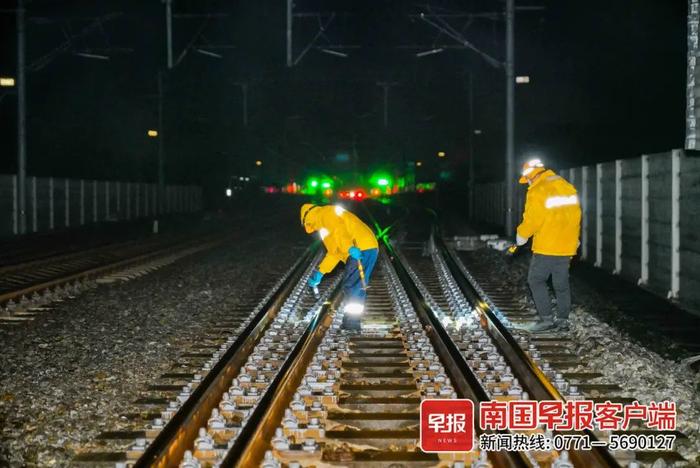
[[[422,467],[480,458],[466,452],[441,460],[417,450],[421,400],[457,393],[386,258],[375,284],[362,330],[344,329],[343,311],[332,313],[299,363],[296,387],[280,392],[244,451],[221,466]]]

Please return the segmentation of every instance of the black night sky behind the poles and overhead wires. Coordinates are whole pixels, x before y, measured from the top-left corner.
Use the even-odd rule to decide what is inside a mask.
[[[266,181],[297,180],[310,169],[352,169],[336,163],[356,154],[360,170],[424,161],[463,174],[475,158],[480,180],[502,177],[504,78],[469,50],[417,58],[433,44],[456,43],[410,15],[428,11],[407,1],[297,0],[297,11],[336,12],[318,45],[343,44],[347,58],[317,49],[285,66],[285,3],[174,0],[174,12],[221,13],[176,18],[175,56],[194,47],[166,77],[167,178],[215,186],[227,174]],[[28,4],[28,173],[146,180],[156,176],[157,73],[165,65],[164,6],[158,0],[34,0]],[[0,75],[16,70],[15,2],[0,9]],[[435,0],[433,11],[498,12],[497,0]],[[683,0],[534,0],[517,6],[516,157],[537,154],[557,167],[680,148],[684,136],[686,2]],[[114,15],[112,15],[114,14]],[[48,63],[70,35],[108,16]],[[453,19],[458,30],[464,19]],[[315,18],[295,21],[295,56],[318,30]],[[475,19],[465,37],[504,57],[504,24]],[[223,45],[234,47],[220,47]],[[420,46],[412,49],[408,46]],[[197,52],[215,52],[214,58]],[[76,54],[93,53],[110,60]],[[44,65],[39,67],[39,65]],[[40,69],[38,69],[40,68]],[[474,83],[475,128],[468,154],[468,76]],[[389,128],[383,91],[389,91]],[[249,126],[242,92],[249,89]],[[2,93],[4,91],[0,91]],[[0,100],[0,172],[15,171],[16,97]],[[446,151],[447,162],[437,151]],[[256,168],[254,161],[264,161]],[[345,163],[348,164],[348,163]],[[258,172],[256,172],[258,171]]]

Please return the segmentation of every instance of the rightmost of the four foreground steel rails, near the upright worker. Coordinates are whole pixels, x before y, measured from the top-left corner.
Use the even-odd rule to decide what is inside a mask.
[[[566,401],[539,366],[523,351],[508,328],[498,319],[486,302],[486,298],[481,297],[479,292],[465,277],[454,258],[454,254],[447,248],[437,229],[433,230],[433,240],[438,253],[445,260],[460,291],[479,313],[482,326],[498,346],[499,351],[503,354],[523,388],[536,400]],[[598,440],[590,430],[580,431],[579,433],[588,436],[592,442]],[[590,451],[572,450],[570,455],[576,466],[591,468],[620,466],[612,454],[604,447],[594,446]]]

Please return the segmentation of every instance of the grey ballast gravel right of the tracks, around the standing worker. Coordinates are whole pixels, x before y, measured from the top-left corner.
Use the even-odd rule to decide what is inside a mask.
[[[496,269],[496,275],[501,275],[507,284],[504,289],[534,311],[527,288],[527,259],[508,262],[502,253],[486,248],[478,254],[480,263],[488,263]],[[688,440],[678,440],[675,448],[688,461],[686,466],[700,466],[700,374],[680,360],[661,356],[632,338],[619,328],[624,326],[624,321],[618,320],[611,326],[598,318],[597,309],[611,307],[604,295],[575,276],[571,287],[574,307],[570,337],[575,351],[585,356],[590,369],[603,374],[601,381],[622,387],[621,396],[636,398],[643,404],[675,401],[677,429],[688,436]]]

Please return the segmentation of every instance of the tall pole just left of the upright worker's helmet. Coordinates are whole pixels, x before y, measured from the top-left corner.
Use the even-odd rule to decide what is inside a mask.
[[[515,0],[506,0],[506,219],[505,234],[513,235],[515,176]]]

